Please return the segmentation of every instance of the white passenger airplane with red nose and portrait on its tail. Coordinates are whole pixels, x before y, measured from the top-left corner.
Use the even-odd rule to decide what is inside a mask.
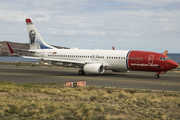
[[[79,75],[103,74],[105,70],[121,71],[149,71],[159,74],[176,68],[178,64],[167,55],[138,50],[88,50],[88,49],[57,49],[44,42],[30,18],[26,18],[29,35],[31,58],[49,62],[52,65],[76,67]]]

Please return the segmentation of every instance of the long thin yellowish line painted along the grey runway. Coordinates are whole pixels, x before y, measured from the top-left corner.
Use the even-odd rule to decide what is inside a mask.
[[[93,79],[93,78],[85,78],[85,77],[68,77],[68,76],[46,76],[46,75],[35,75],[35,74],[17,74],[17,73],[0,73],[1,75],[14,75],[14,76],[38,76],[38,77],[57,77],[57,78],[70,78],[70,79]],[[96,78],[96,80],[108,80],[108,81],[125,81],[125,82],[135,82],[135,83],[154,83],[154,84],[172,84],[172,85],[180,85],[180,83],[167,83],[167,82],[151,82],[151,81],[133,81],[133,80],[114,80],[114,79],[101,79]]]

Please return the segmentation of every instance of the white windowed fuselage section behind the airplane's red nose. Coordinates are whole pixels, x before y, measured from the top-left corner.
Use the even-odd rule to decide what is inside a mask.
[[[102,63],[108,70],[128,70],[127,54],[129,50],[74,50],[39,49],[34,56],[41,58],[80,61],[84,63]]]

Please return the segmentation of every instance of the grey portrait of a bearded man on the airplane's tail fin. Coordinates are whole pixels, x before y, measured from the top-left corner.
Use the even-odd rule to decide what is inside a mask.
[[[31,30],[29,32],[29,39],[30,39],[30,46],[32,49],[41,49],[40,45],[35,42],[36,40],[36,32],[34,30]]]

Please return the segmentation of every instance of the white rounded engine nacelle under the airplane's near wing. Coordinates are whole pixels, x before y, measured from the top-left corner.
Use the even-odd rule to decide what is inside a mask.
[[[104,66],[100,63],[86,64],[83,70],[86,74],[103,74]]]

